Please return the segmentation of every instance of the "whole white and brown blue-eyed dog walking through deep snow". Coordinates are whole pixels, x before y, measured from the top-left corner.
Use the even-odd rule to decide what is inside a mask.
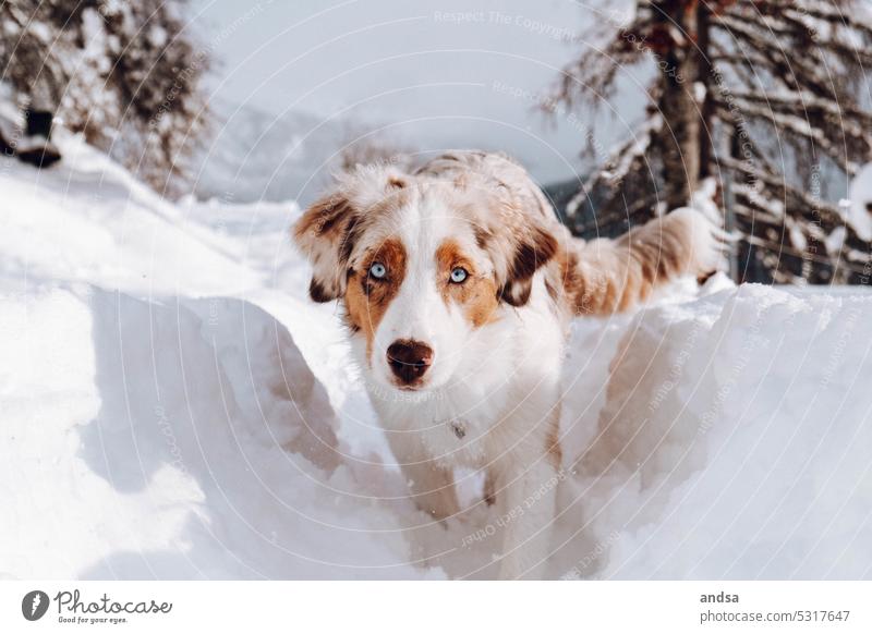
[[[549,553],[571,319],[627,310],[719,257],[716,225],[691,208],[576,239],[520,164],[483,151],[358,167],[292,231],[312,300],[341,303],[417,507],[457,516],[455,468],[485,472],[484,498],[508,519],[500,578],[541,577]]]

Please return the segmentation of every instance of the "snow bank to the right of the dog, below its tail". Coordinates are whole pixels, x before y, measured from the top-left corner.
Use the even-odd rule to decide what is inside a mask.
[[[870,318],[869,294],[747,285],[577,334],[562,531],[586,536],[555,573],[872,576]]]

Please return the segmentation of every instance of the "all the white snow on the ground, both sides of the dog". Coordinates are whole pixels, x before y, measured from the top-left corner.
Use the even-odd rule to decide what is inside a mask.
[[[59,143],[0,159],[0,577],[493,575],[495,509],[404,498],[295,204],[172,205]],[[715,277],[577,320],[550,575],[872,576],[871,317]]]

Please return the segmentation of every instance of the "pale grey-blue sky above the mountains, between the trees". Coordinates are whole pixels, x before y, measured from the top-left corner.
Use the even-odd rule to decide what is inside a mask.
[[[574,175],[591,123],[548,120],[535,102],[583,46],[569,38],[596,20],[594,7],[602,4],[198,0],[194,12],[218,58],[209,83],[217,96],[277,115],[385,126],[413,149],[501,149],[552,182]],[[617,130],[628,124],[618,117]]]

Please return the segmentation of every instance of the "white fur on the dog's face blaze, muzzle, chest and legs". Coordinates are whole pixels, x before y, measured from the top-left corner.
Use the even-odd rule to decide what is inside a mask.
[[[400,229],[407,278],[376,331],[370,357],[354,346],[371,400],[416,503],[437,519],[458,515],[453,472],[485,470],[506,522],[501,578],[537,578],[548,554],[557,477],[546,451],[559,418],[559,368],[566,318],[555,310],[543,275],[528,304],[500,305],[495,322],[472,330],[435,289],[432,254],[451,232],[443,210],[409,210]],[[415,339],[435,352],[425,388],[395,387],[386,350]],[[458,437],[456,425],[464,436]],[[544,493],[540,489],[546,488]]]

